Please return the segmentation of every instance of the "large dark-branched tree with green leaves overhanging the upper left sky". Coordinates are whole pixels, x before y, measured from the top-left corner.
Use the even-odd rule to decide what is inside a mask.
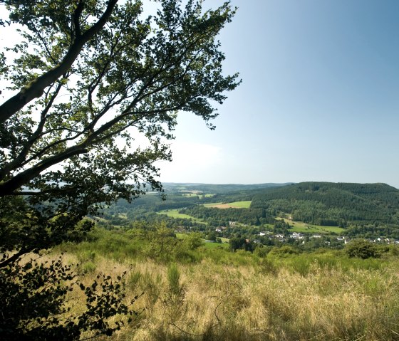
[[[22,38],[0,55],[0,271],[78,239],[104,203],[162,192],[154,162],[171,159],[178,112],[214,129],[239,84],[217,41],[234,9],[156,2],[145,17],[138,0],[0,0]]]

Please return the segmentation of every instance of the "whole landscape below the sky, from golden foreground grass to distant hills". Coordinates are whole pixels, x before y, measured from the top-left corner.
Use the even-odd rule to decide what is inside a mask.
[[[167,184],[165,194],[106,207],[86,238],[46,256],[78,263],[83,283],[120,278],[135,313],[109,320],[125,322],[112,340],[397,340],[397,189]]]

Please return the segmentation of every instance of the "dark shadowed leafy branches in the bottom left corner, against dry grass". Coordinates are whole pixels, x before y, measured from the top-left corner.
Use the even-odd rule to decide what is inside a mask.
[[[110,276],[98,275],[85,286],[61,257],[51,262],[11,263],[1,271],[1,340],[79,340],[82,332],[90,330],[95,335],[111,335],[124,321],[112,325],[110,317],[133,314],[123,303],[125,288],[122,278],[118,279],[113,282]],[[66,294],[76,287],[86,296],[86,310],[79,314],[71,313],[65,302]]]

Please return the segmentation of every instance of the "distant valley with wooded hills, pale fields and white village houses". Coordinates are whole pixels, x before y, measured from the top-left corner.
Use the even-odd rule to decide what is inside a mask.
[[[243,237],[258,245],[399,242],[399,191],[385,184],[166,184],[165,194],[165,201],[156,194],[132,204],[118,201],[98,224],[128,228],[133,221],[165,221],[178,233]]]

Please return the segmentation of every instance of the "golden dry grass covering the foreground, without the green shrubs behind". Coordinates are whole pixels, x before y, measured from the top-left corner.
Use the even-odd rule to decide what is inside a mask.
[[[284,268],[267,272],[204,260],[177,266],[182,290],[175,294],[167,266],[100,256],[89,261],[95,268],[84,274],[85,283],[99,272],[128,271],[127,300],[144,293],[133,305],[138,318],[112,340],[399,340],[394,265],[372,271],[315,265],[303,276]],[[76,302],[82,294],[71,295]]]

